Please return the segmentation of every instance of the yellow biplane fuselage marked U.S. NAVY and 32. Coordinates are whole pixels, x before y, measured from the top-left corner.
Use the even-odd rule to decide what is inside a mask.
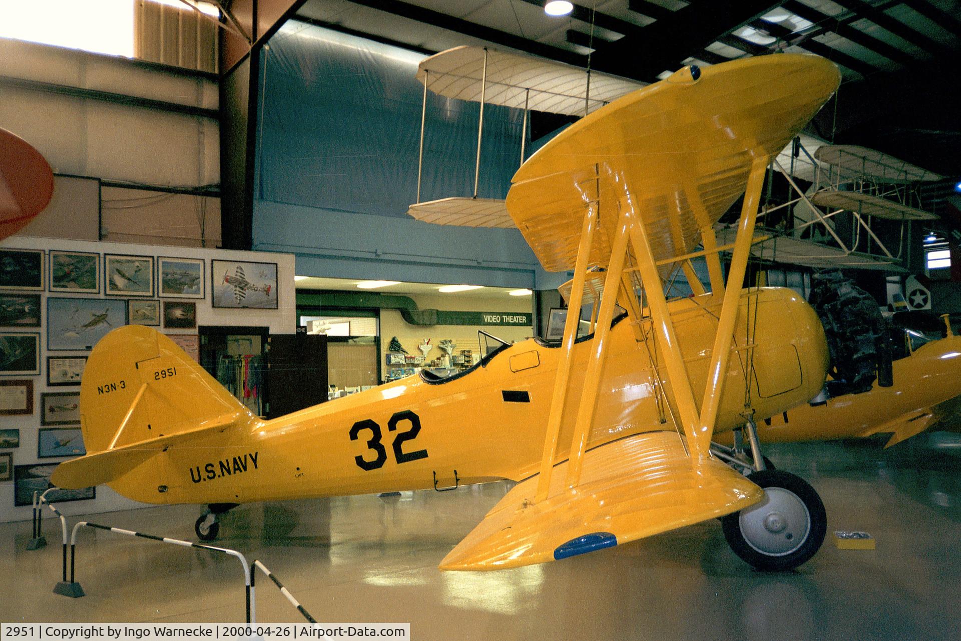
[[[763,417],[808,400],[824,383],[825,338],[813,310],[786,289],[753,290],[742,297],[743,310],[749,300],[750,322],[743,314],[736,331],[719,430],[744,422],[748,392]],[[696,395],[706,383],[718,305],[710,295],[672,302]],[[675,431],[678,409],[650,321],[616,323],[610,342],[588,446]],[[593,344],[587,338],[574,346],[572,389],[583,381]],[[560,353],[558,346],[530,339],[449,379],[409,376],[273,420],[201,435],[111,487],[151,503],[243,503],[524,479],[541,461]],[[746,386],[749,358],[754,372]],[[569,394],[558,462],[567,458],[577,402]]]

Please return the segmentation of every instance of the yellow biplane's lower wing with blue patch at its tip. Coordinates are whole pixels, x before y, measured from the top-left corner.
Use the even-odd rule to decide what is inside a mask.
[[[696,463],[674,432],[648,432],[584,454],[580,485],[554,467],[518,484],[441,561],[442,570],[499,570],[572,557],[742,510],[763,490],[723,463]]]

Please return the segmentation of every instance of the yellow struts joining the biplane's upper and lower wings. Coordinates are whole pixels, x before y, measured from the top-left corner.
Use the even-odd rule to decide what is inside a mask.
[[[622,290],[622,279],[629,272],[637,272],[641,276],[647,304],[651,313],[651,321],[656,336],[661,341],[664,354],[664,365],[672,383],[675,402],[678,405],[680,423],[688,443],[690,455],[696,465],[701,465],[710,457],[710,439],[714,431],[714,423],[720,408],[721,397],[724,393],[730,350],[733,345],[734,326],[737,323],[740,309],[741,291],[744,276],[748,267],[748,257],[751,249],[754,223],[757,216],[757,205],[761,196],[761,187],[767,170],[767,157],[756,158],[752,163],[751,174],[748,178],[744,205],[738,223],[737,238],[734,243],[730,269],[727,274],[727,285],[718,282],[720,278],[720,261],[717,260],[717,244],[711,229],[704,230],[705,249],[715,249],[713,258],[716,263],[712,268],[712,261],[708,259],[711,275],[711,285],[717,297],[723,296],[723,303],[718,320],[718,329],[714,337],[711,351],[711,361],[708,369],[707,385],[704,389],[702,402],[699,405],[691,387],[691,379],[684,363],[684,357],[678,344],[678,337],[674,321],[667,307],[667,299],[658,272],[658,261],[652,249],[648,229],[637,213],[634,197],[630,192],[626,178],[612,177],[611,184],[621,185],[624,190],[620,197],[619,216],[617,225],[612,230],[611,251],[604,273],[604,290],[600,305],[597,306],[594,340],[588,355],[583,387],[580,391],[578,415],[574,424],[574,434],[571,440],[570,458],[567,465],[567,478],[564,487],[574,488],[579,485],[584,453],[590,436],[591,426],[597,409],[598,391],[601,374],[607,354],[607,339],[614,313],[614,304]],[[544,442],[543,458],[541,459],[540,478],[534,497],[535,503],[549,498],[551,474],[554,466],[554,455],[559,438],[560,423],[564,409],[570,370],[572,365],[572,349],[577,338],[579,326],[579,309],[584,292],[584,281],[590,261],[591,242],[597,224],[598,202],[588,203],[584,213],[583,226],[579,239],[578,259],[575,267],[574,281],[571,288],[571,298],[567,321],[564,324],[564,339],[557,368],[554,395],[551,401],[551,413],[548,418],[547,438]],[[629,249],[628,249],[629,248]],[[633,265],[625,269],[625,262],[632,259]],[[688,278],[695,288],[703,291],[701,281],[694,273],[687,256],[678,256],[679,261]],[[693,276],[693,277],[692,277]],[[623,298],[623,297],[622,297]],[[628,304],[628,314],[632,321],[640,321],[639,306]],[[593,317],[593,315],[592,315]]]

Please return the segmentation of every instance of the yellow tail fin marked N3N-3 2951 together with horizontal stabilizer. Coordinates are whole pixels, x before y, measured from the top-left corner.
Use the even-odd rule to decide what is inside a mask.
[[[250,422],[255,416],[183,349],[142,325],[94,345],[80,388],[87,456],[62,463],[60,487],[108,483],[171,439]]]

